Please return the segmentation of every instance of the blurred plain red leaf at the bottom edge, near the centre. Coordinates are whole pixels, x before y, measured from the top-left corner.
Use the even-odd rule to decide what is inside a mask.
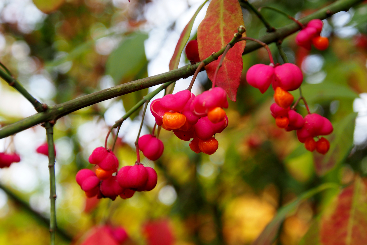
[[[143,227],[148,245],[172,245],[175,242],[168,220],[149,221]]]

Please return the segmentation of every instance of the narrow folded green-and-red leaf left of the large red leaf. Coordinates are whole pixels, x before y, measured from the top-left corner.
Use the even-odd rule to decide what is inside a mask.
[[[187,41],[189,40],[192,25],[194,24],[195,18],[197,14],[199,14],[201,8],[204,7],[204,5],[207,3],[208,0],[205,0],[203,4],[199,6],[199,8],[196,10],[193,17],[190,19],[189,23],[183,28],[180,38],[178,39],[178,42],[176,44],[175,51],[172,55],[172,58],[170,60],[170,71],[173,69],[178,68],[178,63],[180,62],[181,54],[183,51],[183,48],[185,47]]]

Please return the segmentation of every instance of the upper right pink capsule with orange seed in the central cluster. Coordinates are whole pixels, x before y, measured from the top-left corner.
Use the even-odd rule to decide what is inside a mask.
[[[228,108],[227,94],[221,87],[215,87],[196,96],[190,110],[196,116],[206,116],[209,109],[215,107]]]

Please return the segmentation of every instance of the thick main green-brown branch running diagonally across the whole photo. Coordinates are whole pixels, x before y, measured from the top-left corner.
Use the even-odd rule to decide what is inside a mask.
[[[325,19],[330,17],[339,11],[347,11],[350,7],[360,3],[362,0],[338,0],[327,7],[324,7],[302,19],[299,21],[302,24],[307,24],[312,19]],[[278,28],[276,31],[268,33],[259,38],[261,42],[266,44],[270,44],[272,42],[276,42],[277,40],[282,40],[285,37],[291,35],[292,33],[299,30],[300,27],[297,23],[291,23],[282,28]],[[232,41],[231,41],[232,42]],[[244,49],[243,54],[250,53],[258,48],[261,48],[262,45],[259,43],[248,43]],[[203,62],[204,64],[209,64],[210,62],[217,60],[218,57],[223,54],[225,47],[219,50],[217,53],[210,55],[210,57],[206,58]],[[19,122],[13,123],[6,127],[3,127],[0,130],[0,138],[4,138],[10,136],[12,134],[18,133],[22,130],[28,129],[40,123],[46,122],[48,120],[56,120],[61,118],[62,116],[68,115],[74,111],[77,111],[81,108],[87,107],[89,105],[96,104],[98,102],[108,100],[110,98],[118,97],[123,94],[128,94],[137,90],[145,89],[148,87],[155,86],[157,84],[162,84],[170,81],[176,81],[181,78],[187,78],[195,73],[197,66],[200,63],[194,65],[186,65],[178,69],[174,69],[169,72],[161,73],[159,75],[151,76],[148,78],[143,78],[139,80],[135,80],[129,83],[124,83],[118,85],[116,87],[111,87],[109,89],[101,90],[92,94],[88,94],[86,96],[82,96],[76,98],[74,100],[70,100],[65,103],[61,103],[52,107],[49,107],[47,111],[37,113],[33,116],[29,116]],[[204,69],[203,69],[204,70]]]

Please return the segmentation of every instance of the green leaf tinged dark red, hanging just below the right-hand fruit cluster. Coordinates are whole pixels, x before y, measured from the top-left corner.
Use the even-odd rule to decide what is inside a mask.
[[[313,153],[316,173],[320,176],[326,174],[334,166],[341,163],[349,154],[353,146],[353,133],[356,113],[351,113],[334,127],[334,132],[326,136],[330,141],[330,149],[325,155],[316,151]]]

